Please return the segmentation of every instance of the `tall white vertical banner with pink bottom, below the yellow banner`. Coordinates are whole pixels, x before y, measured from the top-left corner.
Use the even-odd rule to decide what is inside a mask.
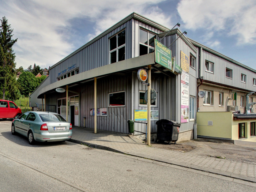
[[[181,123],[188,122],[189,111],[189,74],[182,71],[181,74]]]

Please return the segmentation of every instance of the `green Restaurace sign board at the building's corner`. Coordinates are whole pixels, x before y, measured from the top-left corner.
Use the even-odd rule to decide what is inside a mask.
[[[155,39],[155,63],[172,71],[172,51]]]

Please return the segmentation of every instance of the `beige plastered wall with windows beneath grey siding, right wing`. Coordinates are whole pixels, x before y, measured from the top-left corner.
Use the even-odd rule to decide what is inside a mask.
[[[215,87],[210,85],[202,84],[199,87],[199,91],[209,90],[213,91],[213,105],[205,105],[203,104],[205,98],[199,98],[199,111],[200,112],[226,112],[228,105],[233,105],[233,100],[229,100],[228,98],[231,98],[231,90],[229,89],[223,89],[222,87]],[[224,94],[224,105],[219,106],[219,93]],[[238,106],[238,110],[241,111],[241,113],[245,113],[245,107],[241,108],[241,96],[244,96],[244,106],[245,106],[245,95],[246,93],[242,92],[236,92],[237,93],[237,100],[236,105]],[[253,102],[256,102],[255,95],[250,95],[250,97],[253,97]],[[256,105],[253,105],[254,112],[256,112]]]

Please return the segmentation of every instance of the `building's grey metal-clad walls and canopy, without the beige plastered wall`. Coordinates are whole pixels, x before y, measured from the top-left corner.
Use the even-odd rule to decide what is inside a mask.
[[[91,115],[90,109],[94,108],[94,78],[97,78],[97,108],[106,108],[107,110],[107,116],[97,117],[97,128],[128,133],[127,121],[134,119],[134,110],[147,109],[147,106],[140,101],[140,93],[144,93],[147,86],[138,80],[137,71],[151,65],[151,88],[157,92],[157,100],[151,106],[151,110],[158,110],[159,119],[165,118],[181,122],[181,75],[176,75],[156,64],[154,52],[149,52],[152,48],[149,44],[147,44],[148,54],[141,55],[141,30],[146,31],[148,38],[151,34],[156,35],[155,38],[158,40],[169,31],[166,27],[152,20],[132,13],[53,65],[50,68],[49,77],[31,94],[31,101],[33,98],[46,98],[46,105],[55,105],[56,112],[62,113],[66,93],[57,93],[55,89],[68,86],[68,90],[71,91],[68,93],[70,109],[76,110],[76,119],[79,121],[77,125],[93,128],[94,116]],[[111,63],[110,38],[119,37],[118,34],[124,33],[124,31],[125,44],[122,45],[125,48],[124,60]],[[197,98],[197,80],[199,78],[209,82],[256,91],[255,86],[241,84],[235,78],[232,80],[225,78],[227,67],[233,70],[233,76],[238,75],[239,78],[237,79],[240,79],[241,74],[239,75],[239,73],[242,71],[249,81],[249,79],[255,78],[253,69],[214,52],[184,35],[180,37],[181,34],[180,30],[174,29],[161,40],[161,43],[167,47],[173,43],[170,50],[172,51],[172,57],[176,57],[179,66],[181,65],[181,51],[188,57],[195,58],[195,66],[189,66],[189,95],[191,97]],[[116,53],[119,53],[118,47]],[[119,56],[116,56],[116,58],[119,59]],[[213,74],[205,71],[205,60],[214,63]],[[74,74],[72,75],[73,71]],[[125,94],[125,104],[123,106],[110,106],[109,95],[123,92]],[[72,104],[71,100],[76,98],[79,98],[79,100],[75,100]],[[195,112],[195,117],[189,119],[188,123],[181,124],[181,140],[193,138],[196,104],[190,110]],[[70,116],[72,116],[71,113]],[[151,132],[157,131],[155,122],[151,121]],[[145,125],[135,124],[135,130],[145,132]],[[182,136],[183,132],[184,136]]]

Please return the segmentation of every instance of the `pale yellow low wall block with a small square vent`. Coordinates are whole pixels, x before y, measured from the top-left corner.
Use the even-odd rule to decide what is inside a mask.
[[[232,138],[232,112],[197,112],[197,135],[215,138]],[[212,121],[213,125],[208,125]]]

